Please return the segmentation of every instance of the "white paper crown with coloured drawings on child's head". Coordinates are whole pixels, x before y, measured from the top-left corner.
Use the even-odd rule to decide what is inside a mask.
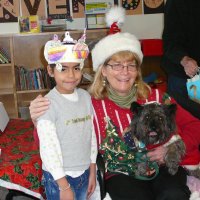
[[[44,47],[44,57],[48,64],[56,64],[56,69],[61,71],[62,63],[76,62],[84,65],[84,60],[88,57],[89,49],[85,44],[85,33],[78,40],[74,40],[69,32],[65,32],[65,37],[61,42],[54,34],[53,40],[48,41]]]

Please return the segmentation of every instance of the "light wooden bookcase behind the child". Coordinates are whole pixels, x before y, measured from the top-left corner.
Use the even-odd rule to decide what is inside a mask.
[[[70,31],[74,39],[79,39],[83,31]],[[0,47],[6,49],[10,56],[10,62],[0,64],[0,101],[3,102],[10,118],[18,118],[20,107],[28,107],[39,94],[46,94],[49,88],[19,89],[17,85],[16,67],[23,66],[27,70],[45,68],[47,62],[43,51],[45,43],[57,34],[59,38],[64,32],[44,32],[29,34],[0,35]],[[87,30],[87,43],[100,39],[107,35],[107,29]],[[92,73],[91,56],[85,62],[84,72]],[[81,87],[87,88],[87,83]]]

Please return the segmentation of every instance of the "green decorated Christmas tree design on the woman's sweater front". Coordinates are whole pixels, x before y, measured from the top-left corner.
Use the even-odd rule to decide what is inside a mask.
[[[130,132],[127,132],[123,139],[120,138],[116,127],[108,117],[106,122],[106,138],[100,145],[106,171],[122,173],[142,180],[154,178],[158,173],[158,166],[148,160],[144,144],[136,138],[131,138]],[[144,174],[141,174],[139,169],[140,163],[146,166]]]

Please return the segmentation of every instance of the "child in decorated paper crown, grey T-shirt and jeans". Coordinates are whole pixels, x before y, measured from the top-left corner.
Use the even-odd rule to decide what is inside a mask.
[[[96,186],[96,136],[90,95],[76,88],[89,50],[84,40],[65,43],[57,35],[44,56],[56,86],[47,95],[50,106],[37,120],[44,186],[48,200],[86,200]]]

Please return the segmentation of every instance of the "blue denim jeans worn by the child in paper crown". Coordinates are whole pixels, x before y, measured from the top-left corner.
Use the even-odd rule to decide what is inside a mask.
[[[75,200],[86,200],[87,189],[89,183],[89,169],[87,169],[81,176],[73,178],[66,176],[67,181],[71,185],[71,189],[74,192]],[[43,184],[45,187],[45,193],[47,200],[60,200],[60,191],[57,182],[53,176],[43,170]]]

